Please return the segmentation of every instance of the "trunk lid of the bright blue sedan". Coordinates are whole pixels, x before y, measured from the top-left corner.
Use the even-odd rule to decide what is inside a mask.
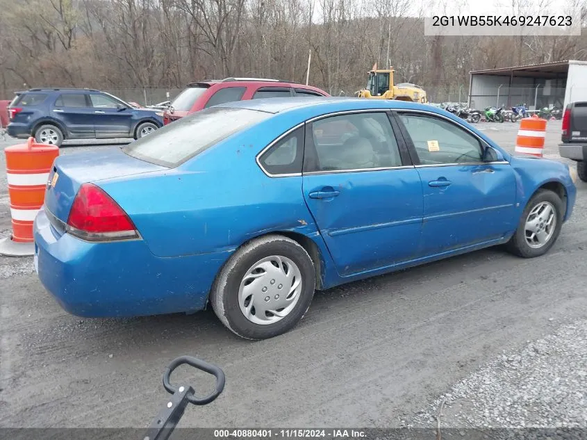
[[[59,156],[49,174],[44,204],[54,217],[67,222],[69,211],[82,184],[161,170],[167,168],[128,156],[117,147]]]

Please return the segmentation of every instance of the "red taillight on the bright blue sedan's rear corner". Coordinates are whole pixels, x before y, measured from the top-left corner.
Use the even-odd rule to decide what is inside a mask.
[[[137,238],[135,225],[124,210],[92,184],[83,184],[74,199],[67,231],[88,241]]]

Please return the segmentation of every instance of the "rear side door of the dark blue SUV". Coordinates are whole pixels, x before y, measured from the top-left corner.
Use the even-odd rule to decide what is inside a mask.
[[[74,139],[95,138],[93,109],[85,93],[62,93],[51,108],[51,113]]]

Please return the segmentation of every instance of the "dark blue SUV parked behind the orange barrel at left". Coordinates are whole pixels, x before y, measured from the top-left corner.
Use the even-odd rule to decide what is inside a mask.
[[[33,88],[8,106],[7,132],[15,138],[61,145],[65,139],[142,138],[163,127],[158,111],[135,108],[99,90]]]

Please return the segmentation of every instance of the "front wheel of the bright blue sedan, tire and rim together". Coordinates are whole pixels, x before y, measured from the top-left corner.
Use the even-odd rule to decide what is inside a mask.
[[[548,252],[561,233],[563,201],[550,190],[538,190],[532,196],[518,223],[518,229],[507,243],[508,250],[524,258]]]

